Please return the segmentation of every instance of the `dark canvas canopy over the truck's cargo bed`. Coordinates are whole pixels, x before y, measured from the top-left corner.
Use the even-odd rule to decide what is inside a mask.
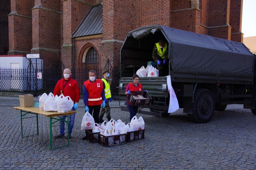
[[[129,63],[134,58],[142,58],[138,59],[142,60],[138,65],[153,61],[154,44],[161,39],[169,44],[172,70],[254,74],[254,56],[243,43],[161,25],[144,26],[129,32],[121,48],[121,65],[124,64],[122,61]]]

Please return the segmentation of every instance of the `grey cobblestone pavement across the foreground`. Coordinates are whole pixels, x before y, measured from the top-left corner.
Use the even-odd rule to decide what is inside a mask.
[[[34,98],[34,100],[38,100]],[[111,118],[129,122],[129,113],[112,101]],[[167,117],[137,114],[145,121],[145,138],[104,147],[81,140],[83,101],[75,116],[69,147],[49,149],[49,118],[39,115],[24,119],[20,133],[20,112],[13,106],[19,99],[0,97],[0,169],[255,169],[256,115],[242,105],[228,105],[215,111],[209,123],[191,122],[182,109]],[[104,117],[104,119],[106,119]],[[59,127],[53,128],[57,135]],[[53,139],[53,147],[67,142]],[[65,144],[65,143],[64,143]]]

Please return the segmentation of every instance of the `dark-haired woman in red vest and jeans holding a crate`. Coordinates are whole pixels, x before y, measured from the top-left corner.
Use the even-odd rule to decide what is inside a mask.
[[[126,90],[125,90],[125,95],[127,95],[126,104],[130,112],[130,121],[134,116],[136,116],[139,106],[132,106],[128,100],[128,95],[131,94],[130,91],[142,91],[142,84],[139,83],[139,75],[133,74],[132,80],[133,81],[131,83],[126,85]],[[147,92],[147,90],[145,91]]]

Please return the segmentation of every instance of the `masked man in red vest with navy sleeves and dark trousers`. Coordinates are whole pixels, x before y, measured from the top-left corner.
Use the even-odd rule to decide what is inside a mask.
[[[96,71],[89,71],[89,79],[84,82],[83,85],[83,96],[85,112],[89,112],[95,123],[99,123],[100,105],[102,108],[105,107],[105,90],[103,88],[102,81],[96,79]],[[85,140],[86,136],[82,138]]]

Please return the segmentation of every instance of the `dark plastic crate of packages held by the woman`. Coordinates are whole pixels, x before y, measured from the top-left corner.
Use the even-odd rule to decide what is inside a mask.
[[[149,105],[151,103],[151,96],[146,91],[130,91],[128,100],[132,106]]]

